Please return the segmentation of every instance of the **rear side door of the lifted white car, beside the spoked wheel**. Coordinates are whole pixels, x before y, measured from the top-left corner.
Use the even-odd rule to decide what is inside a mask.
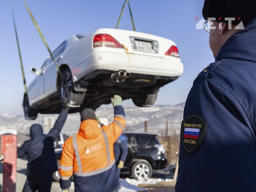
[[[54,52],[52,52],[52,55],[56,62],[61,62],[61,54],[66,48],[66,41],[60,44]],[[44,69],[44,93],[45,96],[50,96],[51,94],[54,94],[57,91],[56,87],[56,80],[57,80],[57,68],[55,63],[51,60],[49,65]]]

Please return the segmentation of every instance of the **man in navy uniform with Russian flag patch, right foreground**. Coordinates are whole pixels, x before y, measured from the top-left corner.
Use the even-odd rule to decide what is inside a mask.
[[[202,13],[216,18],[215,62],[186,100],[176,192],[255,192],[256,1],[206,0]]]

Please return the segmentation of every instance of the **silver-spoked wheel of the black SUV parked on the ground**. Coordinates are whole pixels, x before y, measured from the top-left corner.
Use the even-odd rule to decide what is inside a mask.
[[[150,178],[152,176],[152,166],[146,160],[138,160],[132,165],[131,174],[134,179]]]

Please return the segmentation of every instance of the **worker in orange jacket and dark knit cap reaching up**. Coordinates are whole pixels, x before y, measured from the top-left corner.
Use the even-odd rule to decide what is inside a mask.
[[[119,184],[114,142],[125,126],[122,98],[111,99],[114,121],[98,126],[92,109],[84,109],[78,134],[65,141],[60,159],[60,187],[68,191],[73,176],[76,192],[112,192]]]

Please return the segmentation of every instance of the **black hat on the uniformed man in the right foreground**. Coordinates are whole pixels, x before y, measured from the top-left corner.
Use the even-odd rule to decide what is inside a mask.
[[[242,21],[246,26],[256,18],[256,0],[205,0],[202,13],[205,20],[228,22],[225,18],[235,18],[232,24]]]

